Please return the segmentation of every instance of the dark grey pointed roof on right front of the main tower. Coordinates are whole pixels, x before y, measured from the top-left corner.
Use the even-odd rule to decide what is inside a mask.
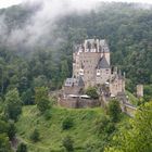
[[[97,65],[97,68],[99,68],[99,69],[100,68],[110,68],[110,64],[107,63],[105,55],[103,55],[99,60],[98,65]]]

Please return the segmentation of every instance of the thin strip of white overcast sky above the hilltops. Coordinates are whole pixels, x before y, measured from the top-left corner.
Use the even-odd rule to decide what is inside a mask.
[[[24,1],[37,1],[37,0],[0,0],[0,8],[7,8],[13,4],[18,4]],[[62,1],[62,0],[61,0]],[[77,0],[78,1],[78,0]],[[88,1],[125,1],[125,2],[141,2],[141,3],[152,3],[152,0],[88,0]]]

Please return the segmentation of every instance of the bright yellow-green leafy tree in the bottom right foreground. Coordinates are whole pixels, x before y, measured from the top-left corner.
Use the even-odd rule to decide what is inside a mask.
[[[112,148],[105,152],[151,152],[152,151],[152,102],[141,105],[130,121],[130,127],[124,128],[113,138]]]

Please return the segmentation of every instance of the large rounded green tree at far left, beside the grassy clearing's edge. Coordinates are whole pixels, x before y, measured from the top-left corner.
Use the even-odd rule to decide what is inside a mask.
[[[17,89],[10,90],[5,94],[4,100],[4,115],[8,118],[17,121],[18,115],[22,113],[22,101]]]

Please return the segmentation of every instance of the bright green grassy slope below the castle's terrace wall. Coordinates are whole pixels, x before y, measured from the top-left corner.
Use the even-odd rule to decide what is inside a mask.
[[[83,151],[88,141],[99,140],[94,134],[94,122],[104,115],[101,107],[85,110],[53,107],[50,112],[51,118],[46,121],[35,105],[23,107],[23,114],[16,124],[17,136],[27,143],[29,152],[63,151],[62,139],[67,135],[74,139],[77,151]],[[74,122],[74,126],[68,130],[62,129],[65,117],[71,117]],[[36,143],[29,139],[35,128],[40,132],[40,141]]]

